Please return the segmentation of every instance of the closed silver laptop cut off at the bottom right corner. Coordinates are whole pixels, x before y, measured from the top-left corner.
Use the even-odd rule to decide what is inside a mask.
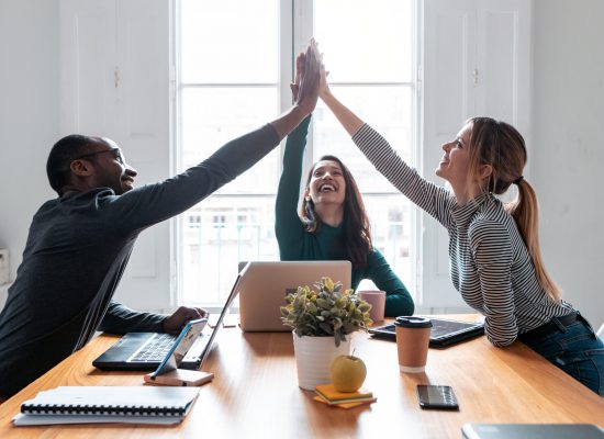
[[[593,424],[466,424],[465,439],[604,439]]]

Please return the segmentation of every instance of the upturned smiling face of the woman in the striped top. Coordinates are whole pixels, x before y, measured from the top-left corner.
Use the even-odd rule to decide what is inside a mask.
[[[465,125],[457,134],[455,140],[443,145],[443,158],[436,168],[436,175],[447,180],[456,193],[468,185],[470,179],[470,133],[472,126]]]

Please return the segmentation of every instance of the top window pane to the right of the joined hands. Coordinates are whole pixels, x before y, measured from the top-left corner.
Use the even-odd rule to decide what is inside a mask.
[[[333,82],[410,82],[412,0],[315,1],[315,32]]]

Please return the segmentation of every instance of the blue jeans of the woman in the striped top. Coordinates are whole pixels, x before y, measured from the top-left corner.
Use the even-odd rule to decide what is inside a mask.
[[[555,320],[555,319],[552,319]],[[600,396],[604,396],[604,342],[583,317],[539,340],[523,341]]]

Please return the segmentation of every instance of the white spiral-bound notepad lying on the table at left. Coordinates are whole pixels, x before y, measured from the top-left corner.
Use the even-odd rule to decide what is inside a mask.
[[[13,424],[178,424],[198,394],[197,387],[61,386],[21,404]]]

